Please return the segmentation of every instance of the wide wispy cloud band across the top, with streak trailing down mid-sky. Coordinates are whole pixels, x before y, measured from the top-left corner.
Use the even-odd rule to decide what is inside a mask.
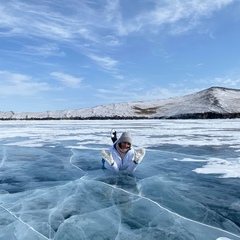
[[[147,8],[144,1],[137,1],[136,8],[128,13],[128,3],[119,0],[104,0],[101,4],[89,0],[8,0],[0,3],[0,37],[29,38],[36,45],[42,39],[47,43],[39,47],[25,45],[22,49],[42,56],[62,56],[60,48],[67,45],[112,74],[119,71],[121,64],[111,57],[109,48],[122,46],[127,36],[183,33],[236,1],[152,0]]]

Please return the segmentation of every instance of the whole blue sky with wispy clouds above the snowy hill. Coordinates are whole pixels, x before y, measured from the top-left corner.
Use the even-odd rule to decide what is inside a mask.
[[[239,0],[0,2],[0,111],[240,89]]]

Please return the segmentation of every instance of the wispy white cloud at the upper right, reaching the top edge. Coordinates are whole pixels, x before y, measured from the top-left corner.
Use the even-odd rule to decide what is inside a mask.
[[[135,31],[150,27],[155,32],[164,29],[165,33],[179,34],[198,27],[203,19],[234,1],[236,0],[155,1],[155,7],[140,13],[133,25],[137,26]],[[168,29],[164,28],[167,25]]]

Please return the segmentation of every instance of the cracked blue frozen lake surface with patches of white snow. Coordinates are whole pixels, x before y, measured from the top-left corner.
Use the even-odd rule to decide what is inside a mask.
[[[240,120],[0,122],[0,239],[240,239]],[[101,169],[110,130],[146,156]]]

